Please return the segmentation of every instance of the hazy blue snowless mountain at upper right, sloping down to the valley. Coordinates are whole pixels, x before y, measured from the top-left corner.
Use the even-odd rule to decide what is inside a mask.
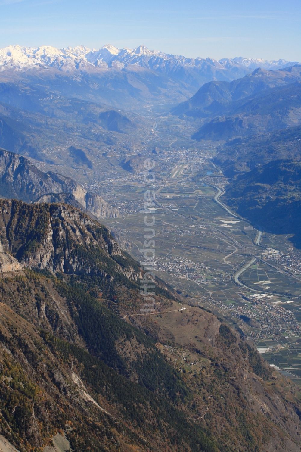
[[[301,66],[256,69],[232,82],[209,82],[172,113],[202,124],[193,134],[196,140],[227,141],[297,126],[301,123]]]

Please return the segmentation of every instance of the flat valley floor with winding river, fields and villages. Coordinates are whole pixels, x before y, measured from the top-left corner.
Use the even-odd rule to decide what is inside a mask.
[[[272,366],[301,384],[301,253],[289,236],[256,229],[222,202],[227,179],[211,153],[183,151],[171,168],[158,169],[156,274],[184,301],[244,331]],[[117,182],[116,203],[127,213],[105,221],[138,260],[146,188],[142,180]]]

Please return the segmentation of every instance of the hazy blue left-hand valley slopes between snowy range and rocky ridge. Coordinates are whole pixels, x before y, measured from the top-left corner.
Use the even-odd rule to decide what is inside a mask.
[[[50,94],[24,80],[0,84],[0,147],[64,165],[65,174],[70,167],[92,170],[104,151],[128,143],[129,134],[131,146],[141,148],[146,123],[133,113]]]

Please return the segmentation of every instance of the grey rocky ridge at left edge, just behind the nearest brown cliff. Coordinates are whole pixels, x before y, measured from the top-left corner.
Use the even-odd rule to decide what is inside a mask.
[[[117,209],[61,174],[43,173],[25,157],[0,150],[0,196],[35,202],[44,195],[68,193],[95,217],[118,217]],[[68,199],[68,198],[66,198]]]

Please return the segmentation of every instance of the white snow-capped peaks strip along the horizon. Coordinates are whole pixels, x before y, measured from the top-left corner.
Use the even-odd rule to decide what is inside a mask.
[[[7,69],[24,71],[47,67],[71,71],[89,70],[89,67],[92,69],[92,66],[102,69],[140,66],[160,72],[178,73],[183,69],[190,70],[192,68],[206,74],[210,73],[213,79],[228,77],[231,80],[235,78],[234,75],[240,74],[242,76],[257,67],[280,69],[294,64],[296,62],[267,61],[243,57],[223,58],[220,61],[213,58],[186,58],[149,50],[144,45],[135,49],[118,49],[110,44],[105,44],[98,50],[90,50],[85,46],[57,49],[51,46],[21,47],[18,45],[0,49],[0,71]]]

